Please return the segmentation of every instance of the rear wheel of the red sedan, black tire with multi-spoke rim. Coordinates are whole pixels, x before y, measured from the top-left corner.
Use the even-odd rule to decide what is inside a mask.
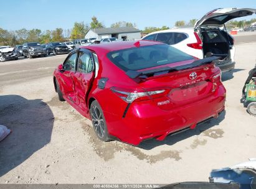
[[[92,118],[93,129],[98,139],[104,142],[111,141],[102,108],[96,100],[93,101],[90,106],[90,116]]]

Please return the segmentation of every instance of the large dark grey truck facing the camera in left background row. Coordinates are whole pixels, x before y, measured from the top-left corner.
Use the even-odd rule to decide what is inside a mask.
[[[22,46],[24,58],[47,56],[47,49],[45,47],[42,47],[42,45],[39,42],[29,42],[23,44]]]

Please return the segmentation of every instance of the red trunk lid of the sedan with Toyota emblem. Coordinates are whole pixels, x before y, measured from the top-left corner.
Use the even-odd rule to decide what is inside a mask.
[[[173,69],[176,70],[169,73],[162,71],[148,75],[144,79],[140,78],[139,85],[145,91],[165,90],[163,95],[158,95],[158,98],[151,98],[161,109],[169,110],[192,101],[199,101],[216,90],[217,83],[212,77],[220,73],[219,69],[214,67],[214,63],[209,62],[214,58],[205,59],[207,59],[207,63],[202,63],[205,61],[204,59],[197,60],[201,62],[201,65],[197,67],[193,67],[193,63],[190,63],[183,66],[182,69],[174,67]],[[164,68],[161,69],[164,70]],[[150,70],[147,71],[147,73],[150,72]],[[135,80],[138,81],[138,78]],[[218,80],[220,81],[220,78]],[[152,88],[151,86],[157,87]]]

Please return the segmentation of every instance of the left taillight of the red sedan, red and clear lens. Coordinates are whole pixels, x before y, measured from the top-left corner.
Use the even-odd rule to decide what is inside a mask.
[[[131,91],[122,88],[111,88],[115,94],[117,94],[121,99],[126,101],[126,103],[132,103],[133,101],[143,101],[147,99],[159,98],[164,94],[167,94],[169,90],[154,90],[154,91]]]

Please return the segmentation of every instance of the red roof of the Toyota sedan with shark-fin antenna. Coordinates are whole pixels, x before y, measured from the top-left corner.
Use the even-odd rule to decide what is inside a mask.
[[[163,44],[163,43],[148,41],[148,40],[137,40],[137,41],[120,41],[120,42],[112,42],[112,43],[106,43],[106,44],[97,44],[97,45],[90,45],[90,46],[85,46],[80,48],[87,48],[95,52],[105,51],[106,53],[108,53],[115,50],[138,47],[138,45],[140,45],[139,47],[143,47],[148,45],[159,45],[159,44]]]

